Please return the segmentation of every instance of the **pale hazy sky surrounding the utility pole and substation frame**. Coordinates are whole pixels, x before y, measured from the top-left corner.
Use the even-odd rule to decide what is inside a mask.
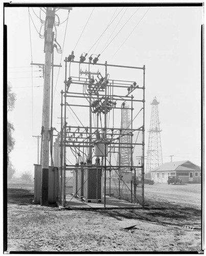
[[[68,11],[59,10],[57,14],[60,23],[64,23],[57,27],[57,42],[63,48],[63,54],[55,52],[55,64],[61,63],[63,66],[64,58],[74,49],[76,59],[79,60],[79,56],[83,52],[88,52],[95,44],[112,16],[115,17],[121,11],[89,54],[101,53],[129,19],[116,38],[102,52],[99,61],[104,63],[107,60],[108,63],[115,65],[146,66],[145,152],[148,146],[150,103],[156,96],[160,102],[159,119],[163,130],[161,133],[163,162],[169,162],[169,156],[174,155],[173,161],[190,160],[200,165],[200,60],[203,8],[123,7],[121,9],[122,7],[95,7],[95,9],[74,7],[68,16],[67,28],[64,20]],[[31,44],[29,11],[34,22],[33,24],[30,18]],[[28,10],[28,7],[5,8],[5,24],[8,29],[8,81],[11,82],[12,90],[16,93],[15,109],[8,114],[8,119],[15,127],[13,136],[16,142],[10,156],[17,171],[16,176],[25,170],[33,171],[33,164],[37,163],[37,139],[32,136],[40,135],[41,132],[43,78],[39,77],[42,76],[40,68],[33,67],[32,93],[30,63],[31,61],[44,63],[44,39],[41,39],[37,33],[41,26],[39,17],[38,7],[33,10],[32,8]],[[41,19],[44,17],[44,13],[41,12]],[[87,20],[88,23],[82,33]],[[81,33],[82,36],[77,44]],[[57,130],[60,126],[57,124],[60,122],[57,117],[60,117],[60,91],[64,86],[63,81],[64,68],[55,68],[53,126]],[[81,120],[84,121],[84,118]]]

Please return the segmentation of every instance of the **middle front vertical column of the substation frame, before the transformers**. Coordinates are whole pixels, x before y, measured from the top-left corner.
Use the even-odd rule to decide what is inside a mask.
[[[107,118],[107,61],[105,61],[105,100],[104,100],[104,207],[106,207],[106,118]]]

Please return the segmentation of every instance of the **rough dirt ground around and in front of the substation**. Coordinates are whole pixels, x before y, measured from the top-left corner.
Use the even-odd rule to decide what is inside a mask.
[[[148,206],[135,210],[59,210],[32,204],[33,192],[8,183],[7,251],[202,253],[200,184],[146,184]]]

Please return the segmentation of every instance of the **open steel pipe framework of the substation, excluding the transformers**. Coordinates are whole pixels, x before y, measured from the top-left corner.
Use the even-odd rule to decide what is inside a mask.
[[[65,172],[66,170],[73,170],[75,167],[81,167],[81,169],[83,169],[84,167],[89,167],[92,166],[93,168],[103,168],[104,170],[104,207],[106,207],[106,172],[107,170],[109,171],[109,195],[111,194],[111,169],[113,170],[118,170],[119,172],[119,198],[121,198],[121,191],[120,191],[120,181],[121,181],[121,168],[129,168],[130,170],[134,171],[134,188],[132,187],[132,182],[131,182],[131,202],[133,201],[134,203],[136,203],[136,169],[135,168],[142,168],[142,178],[144,181],[144,132],[145,132],[145,66],[143,68],[140,67],[128,67],[128,66],[119,66],[119,65],[108,65],[107,61],[103,64],[103,63],[97,63],[95,65],[97,66],[104,66],[105,67],[105,78],[104,78],[104,84],[106,84],[106,86],[104,87],[103,92],[100,94],[100,96],[102,97],[102,95],[104,95],[104,127],[99,127],[99,120],[101,121],[101,115],[97,115],[97,125],[93,126],[91,124],[91,118],[92,118],[92,112],[91,112],[91,103],[92,100],[98,99],[100,96],[97,97],[97,95],[95,94],[91,94],[94,92],[94,90],[88,90],[86,92],[86,87],[89,86],[89,82],[90,82],[90,62],[84,62],[84,64],[88,65],[88,78],[80,78],[79,77],[74,77],[74,78],[78,78],[79,80],[74,80],[71,82],[71,84],[75,84],[75,85],[79,85],[83,87],[83,92],[71,92],[68,91],[69,86],[67,83],[67,58],[64,59],[65,61],[65,80],[64,80],[64,91],[61,91],[61,142],[60,142],[60,159],[61,159],[61,168],[60,168],[60,173],[61,173],[61,204],[63,206],[65,206]],[[69,68],[71,66],[71,64],[74,63],[78,63],[80,65],[79,61],[71,61]],[[133,95],[129,96],[129,95],[125,95],[125,96],[119,96],[119,95],[113,95],[113,89],[114,88],[128,88],[128,86],[131,85],[132,81],[123,81],[123,80],[113,80],[113,79],[107,79],[107,67],[117,67],[117,68],[129,68],[129,69],[140,69],[143,70],[143,87],[137,87],[135,89],[141,89],[143,90],[143,99],[136,99],[134,98]],[[71,75],[70,71],[69,71],[69,75]],[[108,89],[108,90],[107,90]],[[131,102],[131,108],[128,108],[129,111],[131,111],[131,126],[128,127],[126,129],[126,131],[128,132],[127,134],[122,133],[122,129],[119,127],[107,127],[107,115],[108,115],[108,111],[107,111],[107,97],[110,97],[109,95],[111,95],[112,92],[112,100],[116,100],[116,101],[129,101]],[[104,94],[103,94],[104,93]],[[63,100],[64,97],[64,100]],[[88,99],[89,104],[88,105],[83,105],[83,104],[71,104],[67,102],[67,98],[84,98],[84,99]],[[139,127],[138,129],[133,129],[133,103],[134,102],[142,102],[143,103],[143,125],[141,127]],[[89,108],[89,126],[74,126],[74,125],[68,125],[66,123],[66,109],[68,106],[86,106]],[[115,109],[117,110],[123,110],[123,107],[121,106],[121,108],[117,107],[117,108],[112,108],[113,111]],[[114,112],[113,112],[114,113]],[[100,113],[101,114],[101,113]],[[63,122],[63,116],[64,116],[64,122]],[[70,124],[70,123],[69,123]],[[136,143],[133,142],[133,133],[134,132],[142,132],[142,143]],[[104,157],[102,157],[102,164],[103,165],[96,165],[96,164],[92,164],[91,160],[92,160],[92,148],[94,147],[94,138],[92,137],[92,135],[94,134],[99,134],[104,141]],[[72,134],[76,134],[76,136],[72,137]],[[78,134],[78,136],[77,136]],[[84,134],[84,137],[82,136]],[[131,138],[131,143],[121,143],[121,136],[130,136]],[[55,135],[54,135],[55,136]],[[108,138],[107,136],[111,136],[111,139],[113,139],[114,136],[116,136],[115,139],[117,141],[117,136],[119,136],[119,142],[112,142],[110,141],[111,139]],[[77,141],[74,141],[77,140]],[[109,142],[110,141],[110,142]],[[128,146],[127,146],[128,145]],[[135,145],[141,145],[142,146],[142,155],[143,155],[143,160],[141,163],[141,166],[139,165],[135,165],[133,164],[133,148],[135,147]],[[109,151],[109,157],[107,159],[107,148],[108,146],[108,150]],[[86,155],[86,151],[84,151],[84,148],[88,149],[88,164],[81,164],[78,165],[78,163],[76,164],[67,164],[66,163],[66,147],[70,147],[75,148],[75,150],[77,149],[79,154],[83,154],[82,159],[83,161],[85,161],[85,156]],[[82,150],[80,150],[80,148],[82,148]],[[120,150],[121,148],[130,148],[131,150],[131,156],[130,156],[130,164],[129,165],[125,165],[122,166],[121,165],[121,161],[119,162],[119,164],[111,165],[111,154],[114,153],[115,154],[115,148],[119,148],[119,159],[121,160],[121,154],[120,154]],[[114,151],[111,151],[114,150]],[[78,161],[80,161],[80,157],[78,156]],[[104,163],[103,163],[104,161]],[[134,189],[134,193],[132,192],[132,189]],[[133,196],[133,198],[132,198]],[[142,204],[144,205],[144,182],[142,183]]]

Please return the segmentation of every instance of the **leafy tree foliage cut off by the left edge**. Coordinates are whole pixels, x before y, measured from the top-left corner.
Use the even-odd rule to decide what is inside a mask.
[[[16,94],[11,90],[11,83],[7,82],[7,113],[12,111],[15,106]],[[14,126],[9,120],[7,120],[7,165],[9,164],[9,154],[14,148],[15,140],[12,137]]]

